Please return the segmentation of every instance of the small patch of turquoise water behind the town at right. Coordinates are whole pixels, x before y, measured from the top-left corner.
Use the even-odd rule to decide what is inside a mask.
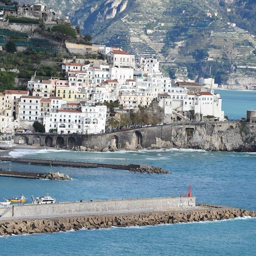
[[[256,91],[214,90],[222,98],[222,110],[229,120],[246,118],[247,110],[256,110]]]

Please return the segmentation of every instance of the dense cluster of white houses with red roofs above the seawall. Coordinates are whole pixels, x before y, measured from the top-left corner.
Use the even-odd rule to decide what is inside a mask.
[[[38,121],[47,133],[104,133],[108,116],[104,101],[119,101],[123,110],[137,110],[157,98],[165,115],[194,111],[224,120],[221,98],[196,82],[172,81],[159,70],[156,58],[141,58],[116,47],[101,46],[103,63],[64,60],[66,79],[27,83],[26,91],[0,93],[0,132],[32,130]]]

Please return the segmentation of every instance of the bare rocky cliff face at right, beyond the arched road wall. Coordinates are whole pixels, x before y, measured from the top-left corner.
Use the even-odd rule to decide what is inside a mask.
[[[173,147],[206,151],[256,151],[256,127],[246,122],[208,123],[185,129],[174,126]]]

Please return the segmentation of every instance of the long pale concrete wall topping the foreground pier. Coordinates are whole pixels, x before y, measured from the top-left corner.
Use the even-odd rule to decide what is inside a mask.
[[[195,207],[196,197],[139,198],[105,201],[82,201],[47,205],[13,205],[4,217],[26,218],[28,216],[65,216],[76,214],[112,214],[112,212],[168,211],[174,208]]]

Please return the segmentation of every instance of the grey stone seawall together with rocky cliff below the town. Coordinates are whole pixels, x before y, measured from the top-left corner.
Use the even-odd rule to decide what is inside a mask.
[[[256,126],[248,122],[205,122],[175,123],[151,127],[141,127],[104,134],[15,134],[15,143],[19,138],[27,138],[33,144],[33,137],[39,136],[41,146],[53,146],[58,137],[63,138],[62,148],[80,151],[116,151],[148,150],[157,148],[195,148],[206,151],[256,151]],[[45,143],[51,137],[53,144]],[[73,137],[75,146],[69,147],[69,138]]]

